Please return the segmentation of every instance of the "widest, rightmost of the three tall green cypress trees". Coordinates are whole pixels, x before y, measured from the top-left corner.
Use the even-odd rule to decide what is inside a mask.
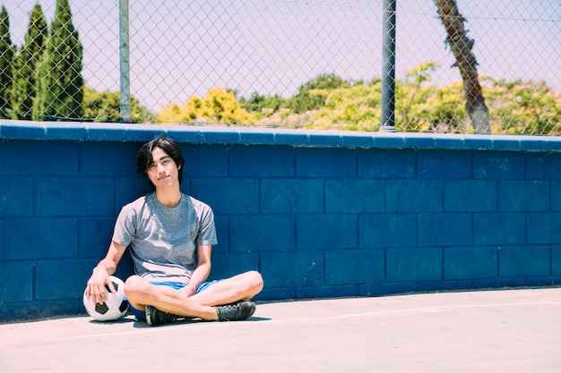
[[[70,5],[68,0],[56,0],[55,20],[39,64],[33,116],[39,120],[81,119],[83,85],[82,44]]]

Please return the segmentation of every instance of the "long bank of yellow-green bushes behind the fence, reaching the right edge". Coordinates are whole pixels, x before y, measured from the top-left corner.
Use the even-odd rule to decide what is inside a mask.
[[[405,72],[395,85],[395,126],[398,131],[470,133],[461,81],[444,86],[431,84],[430,72],[439,66],[419,64]],[[335,81],[331,75],[332,81]],[[335,77],[336,78],[336,77]],[[561,133],[561,95],[544,82],[497,81],[480,77],[494,134]],[[309,89],[307,87],[310,86]],[[231,90],[211,89],[201,99],[191,97],[186,106],[171,104],[158,114],[163,123],[220,123],[281,128],[377,131],[381,122],[382,81],[346,82],[332,86],[305,84],[288,99],[268,100],[254,94],[238,101]],[[298,96],[299,95],[299,96]],[[320,106],[297,108],[297,97],[319,97]],[[258,99],[257,99],[258,98]],[[273,98],[273,97],[271,97]],[[242,104],[243,103],[243,104]],[[272,106],[268,106],[271,103]],[[315,104],[317,104],[315,102]],[[273,106],[274,105],[274,106]]]

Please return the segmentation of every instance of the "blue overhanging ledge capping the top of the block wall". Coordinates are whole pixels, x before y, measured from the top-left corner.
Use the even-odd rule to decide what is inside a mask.
[[[0,120],[5,140],[143,142],[168,136],[181,143],[284,145],[298,148],[425,148],[561,152],[556,136],[287,130],[246,127]]]

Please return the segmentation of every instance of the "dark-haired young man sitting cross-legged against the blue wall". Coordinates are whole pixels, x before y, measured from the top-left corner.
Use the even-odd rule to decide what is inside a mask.
[[[211,247],[217,243],[214,216],[208,205],[180,191],[184,164],[173,140],[158,138],[142,146],[137,171],[150,180],[152,192],[121,210],[107,256],[93,269],[86,295],[106,301],[105,286],[114,290],[109,276],[129,248],[135,275],[125,281],[125,294],[136,318],[152,326],[178,317],[249,318],[255,312],[250,300],[263,289],[263,278],[249,271],[206,281]]]

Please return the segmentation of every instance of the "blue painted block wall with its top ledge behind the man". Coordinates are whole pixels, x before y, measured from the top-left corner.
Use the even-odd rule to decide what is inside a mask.
[[[211,276],[259,270],[258,300],[561,284],[557,138],[0,121],[0,320],[83,312],[161,133],[214,210]]]

